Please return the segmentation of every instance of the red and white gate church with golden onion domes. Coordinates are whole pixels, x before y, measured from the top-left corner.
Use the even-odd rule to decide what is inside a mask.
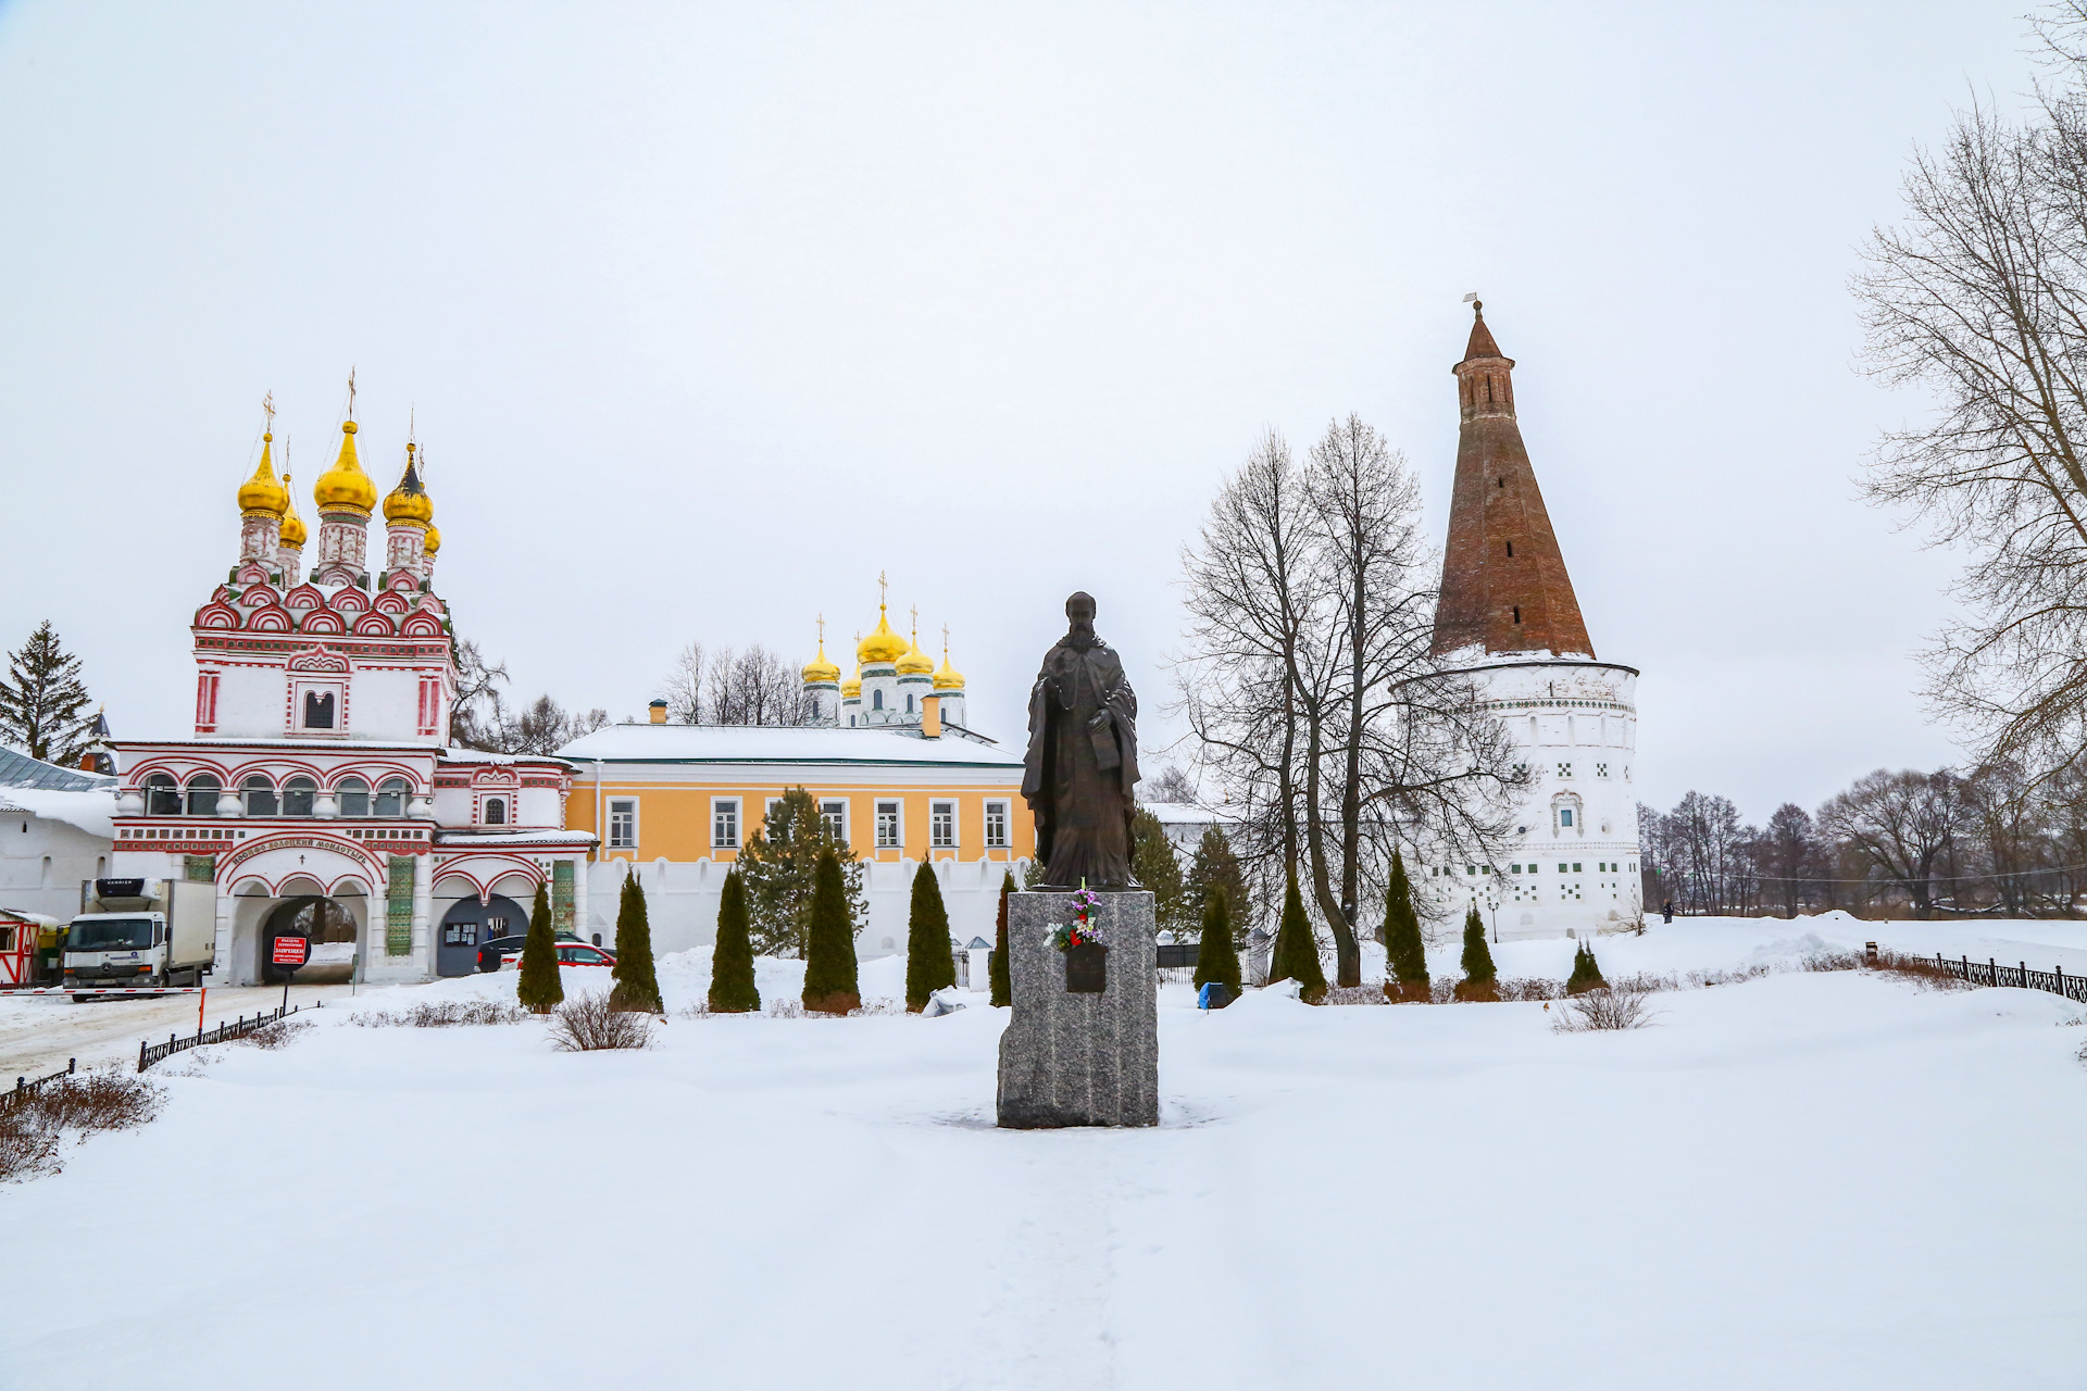
[[[240,488],[240,559],[192,624],[194,738],[113,745],[111,874],[215,882],[219,984],[261,980],[269,943],[319,922],[365,980],[474,970],[480,941],[526,928],[538,886],[559,928],[584,924],[595,836],[563,830],[572,767],[449,747],[455,636],[411,446],[371,576],[378,498],[342,425],[301,582],[305,528],[269,438]]]

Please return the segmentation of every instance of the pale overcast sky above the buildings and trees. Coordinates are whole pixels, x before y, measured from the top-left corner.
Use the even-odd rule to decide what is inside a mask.
[[[845,661],[885,569],[987,730],[1073,588],[1154,711],[1263,428],[1359,411],[1440,534],[1480,290],[1642,797],[1816,805],[1956,757],[1847,275],[2020,10],[4,4],[0,644],[186,734],[261,396],[315,528],[355,365],[518,694],[630,715],[820,611]]]

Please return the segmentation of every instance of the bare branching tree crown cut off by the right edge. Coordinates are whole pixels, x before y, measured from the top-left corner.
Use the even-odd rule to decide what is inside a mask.
[[[1866,359],[1937,402],[1887,434],[1870,496],[1970,553],[1930,697],[1987,759],[2087,751],[2087,63],[2081,6],[2045,25],[2058,81],[2010,123],[1960,113],[1870,236]]]

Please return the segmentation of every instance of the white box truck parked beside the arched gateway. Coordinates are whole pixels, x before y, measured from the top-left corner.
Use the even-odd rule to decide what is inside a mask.
[[[217,886],[188,880],[88,880],[65,932],[65,989],[202,984],[217,951]]]

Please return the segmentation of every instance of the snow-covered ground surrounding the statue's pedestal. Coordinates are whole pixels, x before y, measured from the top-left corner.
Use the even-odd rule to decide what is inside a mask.
[[[1870,938],[2087,974],[2064,924],[1655,922],[1599,953]],[[1563,976],[1572,945],[1496,951]],[[668,1007],[703,976],[668,957]],[[1169,986],[1146,1132],[995,1130],[1006,1014],[973,1001],[568,1055],[330,999],[280,1051],[184,1055],[161,1120],[0,1189],[0,1387],[2087,1381],[2087,1028],[2058,997],[1784,972],[1559,1034],[1538,1003],[1204,1016]]]

